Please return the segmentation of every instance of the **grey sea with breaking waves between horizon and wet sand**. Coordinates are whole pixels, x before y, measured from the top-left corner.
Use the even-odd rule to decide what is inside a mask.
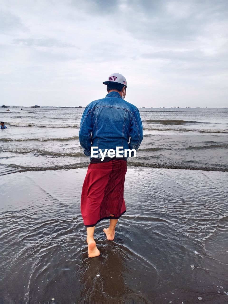
[[[83,109],[0,109],[0,174],[88,166],[79,145]],[[128,165],[228,170],[228,109],[140,109],[144,138]]]

